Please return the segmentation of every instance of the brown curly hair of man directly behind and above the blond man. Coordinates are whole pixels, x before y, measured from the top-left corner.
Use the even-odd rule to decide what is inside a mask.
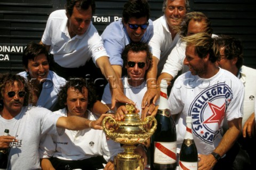
[[[185,15],[184,21],[179,28],[180,29],[179,34],[181,37],[187,36],[188,25],[191,20],[197,21],[197,22],[203,22],[205,26],[204,32],[209,35],[212,35],[213,29],[211,27],[211,21],[206,17],[206,15],[202,12],[189,12]]]

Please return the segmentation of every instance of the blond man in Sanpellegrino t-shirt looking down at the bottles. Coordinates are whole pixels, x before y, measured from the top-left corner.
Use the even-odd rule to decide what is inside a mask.
[[[186,116],[191,116],[198,169],[230,169],[233,162],[225,154],[241,131],[244,86],[231,72],[215,66],[217,45],[209,34],[182,41],[187,43],[184,64],[189,71],[175,80],[169,97],[171,114],[178,116],[177,148],[186,133]],[[222,136],[224,118],[229,128]]]

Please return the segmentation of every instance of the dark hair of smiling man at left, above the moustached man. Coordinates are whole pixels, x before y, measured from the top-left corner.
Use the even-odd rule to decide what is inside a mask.
[[[50,55],[43,44],[37,44],[30,42],[27,44],[27,47],[22,54],[22,64],[25,68],[28,68],[28,60],[35,60],[36,56],[39,54],[44,54],[47,58],[47,61],[50,62]]]

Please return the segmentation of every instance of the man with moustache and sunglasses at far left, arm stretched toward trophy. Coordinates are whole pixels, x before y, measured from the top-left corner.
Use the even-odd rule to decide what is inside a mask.
[[[0,74],[0,150],[9,148],[7,169],[41,169],[39,141],[45,134],[62,135],[65,128],[102,129],[103,114],[98,120],[78,116],[61,117],[41,107],[29,107],[33,102],[30,87],[19,75]],[[3,136],[4,129],[10,136]]]

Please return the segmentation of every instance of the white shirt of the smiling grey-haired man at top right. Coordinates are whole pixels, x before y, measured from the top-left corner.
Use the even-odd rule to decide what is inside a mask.
[[[172,34],[169,31],[165,15],[153,21],[154,35],[149,41],[151,53],[159,60],[157,64],[157,75],[160,75],[164,64],[171,53],[172,49],[179,40],[179,35],[176,34],[172,39]]]

